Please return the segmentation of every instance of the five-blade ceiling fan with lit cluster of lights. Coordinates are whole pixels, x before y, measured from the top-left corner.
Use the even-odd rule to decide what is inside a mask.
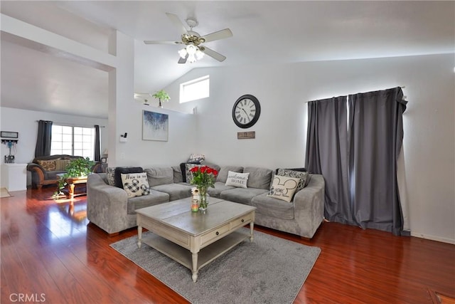
[[[166,13],[168,18],[171,20],[174,26],[181,31],[181,41],[144,41],[145,44],[183,44],[186,47],[182,48],[178,53],[181,58],[178,60],[178,63],[189,63],[196,62],[196,59],[201,59],[204,54],[215,58],[217,61],[224,61],[225,56],[221,55],[218,52],[213,51],[207,46],[202,46],[202,43],[220,40],[224,38],[232,37],[232,31],[229,28],[225,28],[221,31],[215,31],[213,33],[208,33],[207,35],[200,36],[196,31],[193,31],[193,28],[198,26],[198,21],[194,18],[186,19],[186,23],[190,27],[190,30],[187,31],[182,21],[178,19],[176,14]]]

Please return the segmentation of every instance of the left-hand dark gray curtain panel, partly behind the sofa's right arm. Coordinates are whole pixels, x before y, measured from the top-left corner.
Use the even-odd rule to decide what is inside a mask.
[[[326,181],[324,216],[356,225],[348,192],[348,130],[346,96],[308,103],[305,167]]]

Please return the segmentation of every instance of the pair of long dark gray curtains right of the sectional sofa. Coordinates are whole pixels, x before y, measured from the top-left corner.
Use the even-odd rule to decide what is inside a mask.
[[[329,221],[402,231],[397,157],[406,101],[401,88],[308,103],[305,165],[326,181]],[[349,113],[349,117],[348,117]]]

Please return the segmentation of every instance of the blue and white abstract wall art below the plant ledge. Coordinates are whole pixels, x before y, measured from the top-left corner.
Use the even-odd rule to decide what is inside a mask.
[[[167,142],[169,136],[169,115],[142,111],[142,140]]]

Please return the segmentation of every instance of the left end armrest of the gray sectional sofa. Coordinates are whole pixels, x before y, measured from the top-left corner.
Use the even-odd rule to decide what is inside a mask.
[[[128,196],[124,189],[109,186],[102,174],[89,174],[87,179],[87,219],[115,234],[127,229]]]

